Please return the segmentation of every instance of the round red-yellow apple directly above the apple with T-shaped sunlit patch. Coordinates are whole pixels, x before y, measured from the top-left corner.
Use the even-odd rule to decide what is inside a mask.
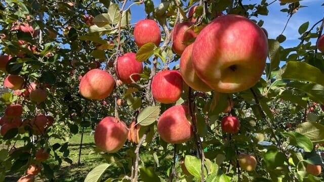
[[[101,69],[88,71],[79,84],[80,94],[87,99],[102,100],[108,97],[115,85],[111,74]]]

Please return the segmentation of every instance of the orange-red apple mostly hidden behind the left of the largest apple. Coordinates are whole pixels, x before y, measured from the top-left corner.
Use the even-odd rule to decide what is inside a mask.
[[[191,52],[192,45],[188,45],[188,47],[184,50],[180,58],[180,73],[182,75],[183,80],[188,84],[191,88],[200,91],[200,92],[209,92],[212,90],[206,83],[201,81],[201,79],[195,73],[192,64],[191,64]]]

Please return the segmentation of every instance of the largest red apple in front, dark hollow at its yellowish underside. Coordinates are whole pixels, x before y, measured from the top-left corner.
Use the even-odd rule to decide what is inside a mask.
[[[217,92],[235,93],[258,82],[267,55],[268,40],[257,24],[239,15],[224,15],[196,37],[192,65]]]

